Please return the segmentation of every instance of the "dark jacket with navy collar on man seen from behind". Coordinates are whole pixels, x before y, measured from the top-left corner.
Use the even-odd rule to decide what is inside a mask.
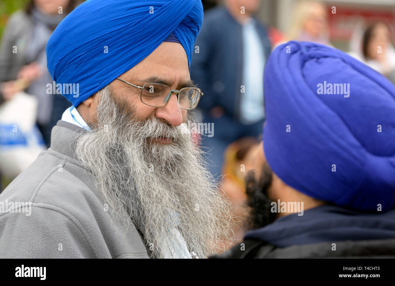
[[[395,258],[395,209],[315,207],[248,232],[243,243],[213,258]]]

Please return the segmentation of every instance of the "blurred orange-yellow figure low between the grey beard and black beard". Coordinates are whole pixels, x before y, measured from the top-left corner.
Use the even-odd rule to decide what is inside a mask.
[[[252,169],[254,157],[258,150],[259,141],[254,137],[243,137],[229,144],[224,152],[222,164],[222,186],[224,193],[232,203],[235,216],[235,242],[243,239],[245,219],[248,215],[245,205],[246,189],[245,174]]]

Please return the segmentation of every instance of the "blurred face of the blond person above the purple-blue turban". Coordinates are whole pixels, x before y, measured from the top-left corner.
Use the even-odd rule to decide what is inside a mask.
[[[303,24],[303,30],[312,37],[319,37],[326,32],[327,13],[322,4],[311,3],[310,13]]]

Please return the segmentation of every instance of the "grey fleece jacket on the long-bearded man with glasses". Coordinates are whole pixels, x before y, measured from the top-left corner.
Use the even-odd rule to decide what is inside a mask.
[[[133,224],[122,234],[73,159],[71,140],[84,131],[59,120],[51,148],[0,194],[0,258],[149,258]],[[30,215],[13,211],[15,202],[31,202]]]

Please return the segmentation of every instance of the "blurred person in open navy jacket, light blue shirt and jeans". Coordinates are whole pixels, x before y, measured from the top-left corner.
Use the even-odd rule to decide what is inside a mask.
[[[226,0],[205,11],[194,45],[191,79],[205,91],[199,103],[203,121],[214,123],[214,136],[205,136],[203,145],[215,177],[226,146],[258,136],[264,121],[262,78],[271,46],[254,16],[259,6],[259,0]]]

